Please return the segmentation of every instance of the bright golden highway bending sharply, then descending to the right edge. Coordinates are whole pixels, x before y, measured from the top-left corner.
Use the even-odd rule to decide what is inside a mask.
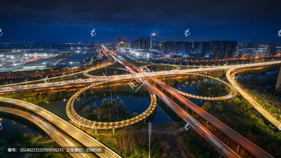
[[[241,67],[240,67],[241,68]],[[279,127],[280,122],[277,121],[274,116],[269,114],[257,101],[255,101],[249,94],[247,94],[244,90],[240,88],[240,86],[234,81],[234,76],[238,72],[231,73],[232,71],[239,68],[232,68],[226,72],[227,80],[237,89],[237,91],[247,100],[249,103],[257,110],[259,113],[264,116],[270,123],[272,123],[275,127]]]

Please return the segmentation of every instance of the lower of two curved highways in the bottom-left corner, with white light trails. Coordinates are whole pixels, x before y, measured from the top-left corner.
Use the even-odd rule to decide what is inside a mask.
[[[63,136],[63,134],[59,132],[54,126],[52,126],[49,122],[45,121],[39,116],[33,115],[27,111],[22,111],[22,110],[18,110],[15,108],[8,108],[8,107],[0,107],[0,111],[4,113],[17,115],[27,119],[28,121],[31,121],[39,128],[41,128],[44,132],[46,132],[50,137],[52,137],[60,146],[62,146],[65,149],[65,151],[70,151],[70,149],[68,149],[67,147],[79,148],[74,143],[72,143],[71,140]],[[83,151],[77,153],[70,152],[69,154],[75,158],[90,157]]]

